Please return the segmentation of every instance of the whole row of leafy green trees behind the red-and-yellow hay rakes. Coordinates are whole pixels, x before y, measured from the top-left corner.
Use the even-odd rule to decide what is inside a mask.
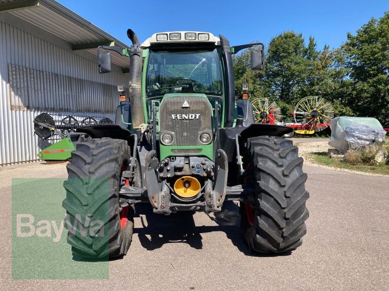
[[[252,98],[275,100],[286,118],[306,96],[331,101],[335,115],[389,118],[389,12],[372,18],[337,49],[319,50],[314,37],[283,32],[266,50],[265,70],[250,69],[250,50],[233,57],[237,93],[249,83]],[[288,116],[289,115],[289,116]]]

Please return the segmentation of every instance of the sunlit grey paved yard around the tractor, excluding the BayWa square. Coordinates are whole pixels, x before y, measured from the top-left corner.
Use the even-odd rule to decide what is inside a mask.
[[[294,141],[303,143],[304,153],[304,140]],[[308,163],[304,171],[311,196],[308,233],[290,255],[249,254],[234,203],[219,213],[171,216],[137,205],[132,245],[123,259],[109,262],[109,280],[12,280],[10,179],[66,177],[66,169],[40,163],[5,167],[0,290],[388,290],[388,178]]]

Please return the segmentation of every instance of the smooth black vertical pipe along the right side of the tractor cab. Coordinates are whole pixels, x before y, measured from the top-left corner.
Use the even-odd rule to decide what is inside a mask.
[[[235,80],[232,67],[230,42],[223,35],[219,34],[220,44],[223,53],[223,63],[226,71],[226,127],[232,127],[235,115]]]

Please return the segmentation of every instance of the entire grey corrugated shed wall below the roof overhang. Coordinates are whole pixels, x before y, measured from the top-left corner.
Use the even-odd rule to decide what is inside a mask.
[[[19,79],[16,79],[12,77],[16,72],[21,72],[21,75],[25,72],[25,75],[23,78],[19,75]],[[57,78],[57,81],[42,80],[44,78],[37,77],[36,72],[44,72],[44,78],[51,76]],[[14,83],[16,80],[24,83],[11,86],[9,76],[14,79]],[[31,80],[39,82],[42,87],[31,84]],[[76,86],[80,90],[79,94],[66,91],[61,80],[81,80],[81,84],[77,83]],[[118,104],[118,96],[112,86],[126,83],[124,74],[113,72],[101,75],[96,63],[0,22],[0,165],[37,159],[40,148],[38,137],[34,136],[33,120],[43,111],[49,114],[107,116],[114,120],[113,109]],[[96,84],[110,85],[110,89]],[[71,104],[74,104],[74,94],[78,98],[73,108]],[[31,101],[31,98],[39,96],[46,101]],[[55,108],[67,111],[53,111]]]

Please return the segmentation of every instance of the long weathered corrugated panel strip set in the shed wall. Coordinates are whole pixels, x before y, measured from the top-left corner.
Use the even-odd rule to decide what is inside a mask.
[[[8,64],[11,110],[51,110],[115,113],[117,87]],[[91,91],[92,90],[92,91]],[[94,98],[94,97],[97,98]],[[83,102],[90,100],[93,102]]]

